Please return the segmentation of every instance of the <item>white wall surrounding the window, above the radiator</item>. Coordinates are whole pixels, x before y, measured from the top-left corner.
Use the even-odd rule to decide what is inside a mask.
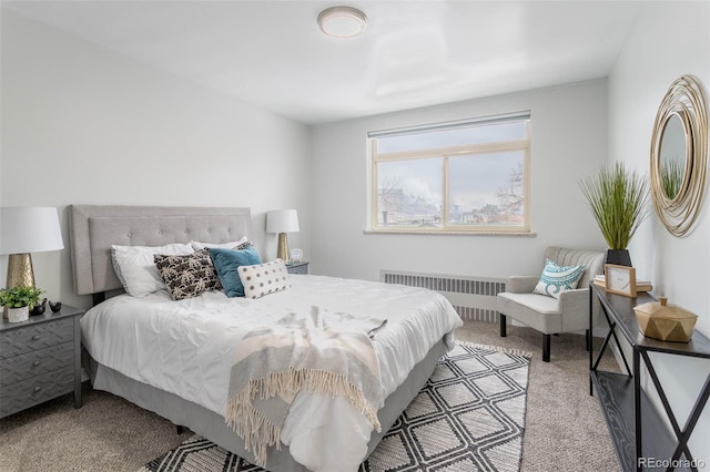
[[[377,280],[379,269],[539,274],[546,246],[604,249],[578,181],[607,160],[607,84],[596,80],[315,126],[314,273]],[[365,234],[368,131],[530,110],[534,236]]]

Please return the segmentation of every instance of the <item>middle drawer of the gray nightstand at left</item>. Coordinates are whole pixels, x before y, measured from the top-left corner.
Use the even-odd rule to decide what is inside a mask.
[[[73,366],[74,343],[64,342],[51,348],[11,357],[0,360],[0,386],[3,388],[21,382],[36,376],[41,376],[62,367]]]

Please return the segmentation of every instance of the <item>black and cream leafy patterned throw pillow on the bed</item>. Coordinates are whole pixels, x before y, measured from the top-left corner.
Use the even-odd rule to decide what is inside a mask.
[[[153,260],[174,300],[193,298],[222,288],[209,249],[200,249],[187,256],[156,254]]]

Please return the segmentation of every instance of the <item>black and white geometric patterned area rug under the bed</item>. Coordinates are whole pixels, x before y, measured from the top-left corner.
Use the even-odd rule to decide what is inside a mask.
[[[359,472],[519,471],[530,355],[457,342]],[[195,434],[139,472],[263,472]]]

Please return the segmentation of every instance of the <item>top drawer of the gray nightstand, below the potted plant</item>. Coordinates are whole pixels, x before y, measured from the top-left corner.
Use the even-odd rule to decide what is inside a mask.
[[[74,318],[28,325],[0,334],[0,359],[8,359],[74,339]]]

